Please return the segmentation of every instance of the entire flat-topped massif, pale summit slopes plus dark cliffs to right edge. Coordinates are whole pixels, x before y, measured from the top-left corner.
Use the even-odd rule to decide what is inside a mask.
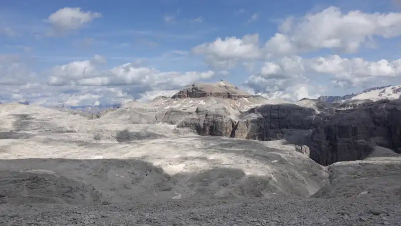
[[[220,81],[189,85],[171,98],[132,101],[96,120],[108,118],[171,124],[177,133],[285,139],[322,165],[363,159],[376,145],[401,152],[401,100],[277,103]]]

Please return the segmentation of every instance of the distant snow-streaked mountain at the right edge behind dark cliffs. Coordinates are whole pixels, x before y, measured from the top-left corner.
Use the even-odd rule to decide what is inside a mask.
[[[370,99],[377,101],[381,99],[399,99],[401,96],[401,85],[387,85],[381,87],[367,88],[358,93],[343,96],[320,96],[319,101],[343,103],[350,100]]]

